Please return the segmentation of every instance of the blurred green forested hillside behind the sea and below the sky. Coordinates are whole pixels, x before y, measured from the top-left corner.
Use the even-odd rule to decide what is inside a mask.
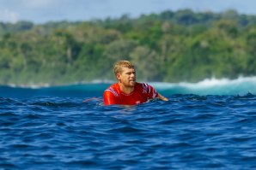
[[[256,16],[189,9],[80,22],[0,23],[0,84],[114,79],[126,59],[143,81],[256,75]]]

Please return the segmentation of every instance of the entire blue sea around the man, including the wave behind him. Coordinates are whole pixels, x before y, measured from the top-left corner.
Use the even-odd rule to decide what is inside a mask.
[[[255,77],[149,84],[169,101],[107,107],[102,82],[0,86],[0,169],[256,169]]]

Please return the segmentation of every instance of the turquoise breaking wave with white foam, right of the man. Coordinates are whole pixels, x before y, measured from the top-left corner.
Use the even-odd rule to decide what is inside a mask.
[[[149,83],[160,91],[173,91],[179,89],[179,93],[192,93],[198,95],[226,95],[226,94],[245,94],[247,92],[256,94],[256,76],[239,77],[238,79],[204,79],[197,83]]]

